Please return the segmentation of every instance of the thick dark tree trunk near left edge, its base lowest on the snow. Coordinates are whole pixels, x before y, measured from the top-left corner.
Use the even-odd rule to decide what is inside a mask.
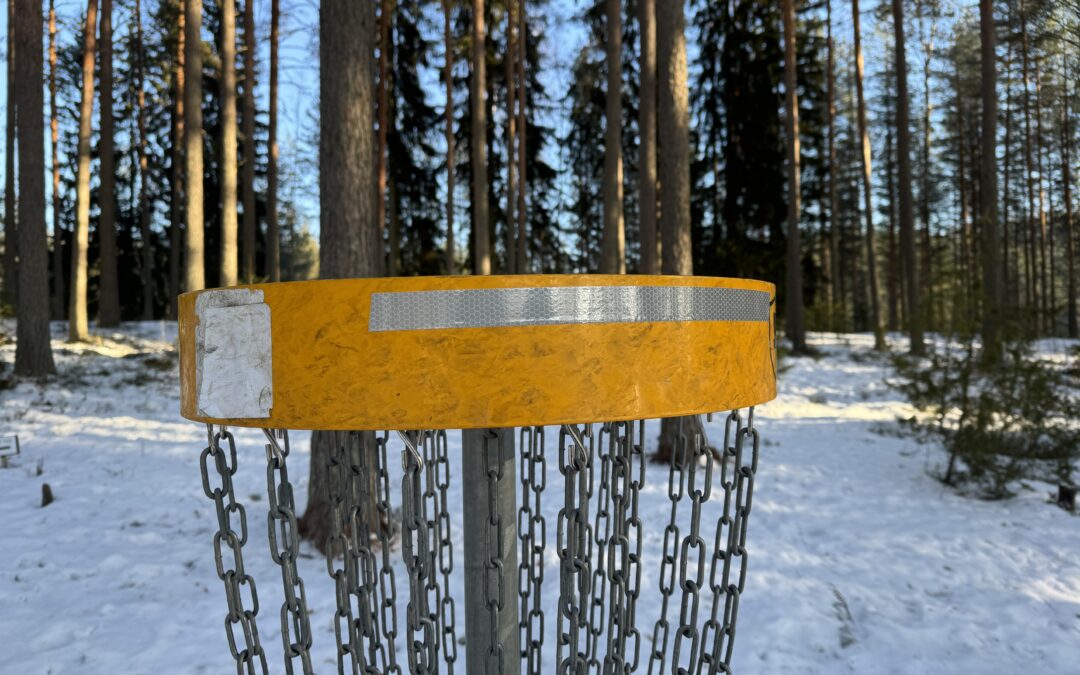
[[[15,374],[56,372],[49,342],[49,239],[45,230],[45,102],[41,91],[41,0],[15,3],[18,79],[18,324]],[[11,43],[9,43],[11,44]]]

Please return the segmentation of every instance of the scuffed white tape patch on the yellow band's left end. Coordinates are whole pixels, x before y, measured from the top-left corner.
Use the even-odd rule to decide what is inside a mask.
[[[208,291],[195,299],[199,415],[270,417],[273,407],[270,306],[261,291]]]

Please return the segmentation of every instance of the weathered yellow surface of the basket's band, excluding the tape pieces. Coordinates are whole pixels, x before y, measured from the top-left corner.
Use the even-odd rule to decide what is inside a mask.
[[[704,276],[502,275],[251,286],[270,306],[273,408],[212,419],[195,406],[195,296],[180,296],[180,413],[281,429],[451,429],[713,413],[775,397],[773,322],[565,324],[368,332],[373,293],[534,286],[772,284]]]

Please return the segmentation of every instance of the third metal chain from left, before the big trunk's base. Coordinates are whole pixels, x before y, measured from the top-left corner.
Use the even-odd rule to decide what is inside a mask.
[[[367,670],[364,653],[359,649],[356,624],[350,596],[351,581],[356,578],[355,558],[349,550],[349,522],[352,500],[349,499],[352,482],[347,470],[349,464],[346,445],[350,442],[348,432],[329,432],[329,451],[326,453],[326,492],[330,504],[330,534],[326,539],[326,571],[334,580],[337,609],[334,613],[334,637],[337,640],[338,673],[354,675]],[[337,555],[341,554],[341,566]]]

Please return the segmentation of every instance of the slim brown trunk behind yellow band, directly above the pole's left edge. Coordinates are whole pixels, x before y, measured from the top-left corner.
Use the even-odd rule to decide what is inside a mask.
[[[487,207],[487,46],[485,45],[484,0],[472,0],[472,82],[469,103],[472,129],[472,228],[473,273],[491,273],[491,235]]]

